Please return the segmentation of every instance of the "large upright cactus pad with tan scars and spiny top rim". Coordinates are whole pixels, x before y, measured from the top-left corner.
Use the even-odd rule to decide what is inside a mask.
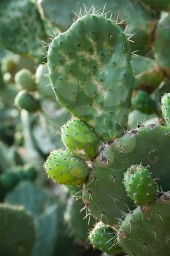
[[[101,29],[102,28],[102,29]],[[134,77],[123,31],[103,15],[85,15],[48,50],[56,97],[103,140],[123,134]]]

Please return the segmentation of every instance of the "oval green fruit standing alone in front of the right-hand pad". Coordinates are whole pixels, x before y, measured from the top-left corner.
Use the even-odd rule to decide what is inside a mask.
[[[131,165],[124,174],[128,196],[139,206],[151,203],[156,197],[155,181],[150,171],[142,165]]]

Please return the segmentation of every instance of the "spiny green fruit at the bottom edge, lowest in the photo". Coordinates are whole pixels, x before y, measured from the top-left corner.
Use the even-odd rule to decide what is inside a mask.
[[[98,222],[88,236],[94,248],[109,255],[122,255],[122,249],[117,245],[116,231],[109,225]]]

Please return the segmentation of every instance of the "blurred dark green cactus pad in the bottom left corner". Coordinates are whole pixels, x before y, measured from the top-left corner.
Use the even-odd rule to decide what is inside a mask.
[[[34,222],[20,206],[0,204],[1,255],[30,256],[34,246]]]

